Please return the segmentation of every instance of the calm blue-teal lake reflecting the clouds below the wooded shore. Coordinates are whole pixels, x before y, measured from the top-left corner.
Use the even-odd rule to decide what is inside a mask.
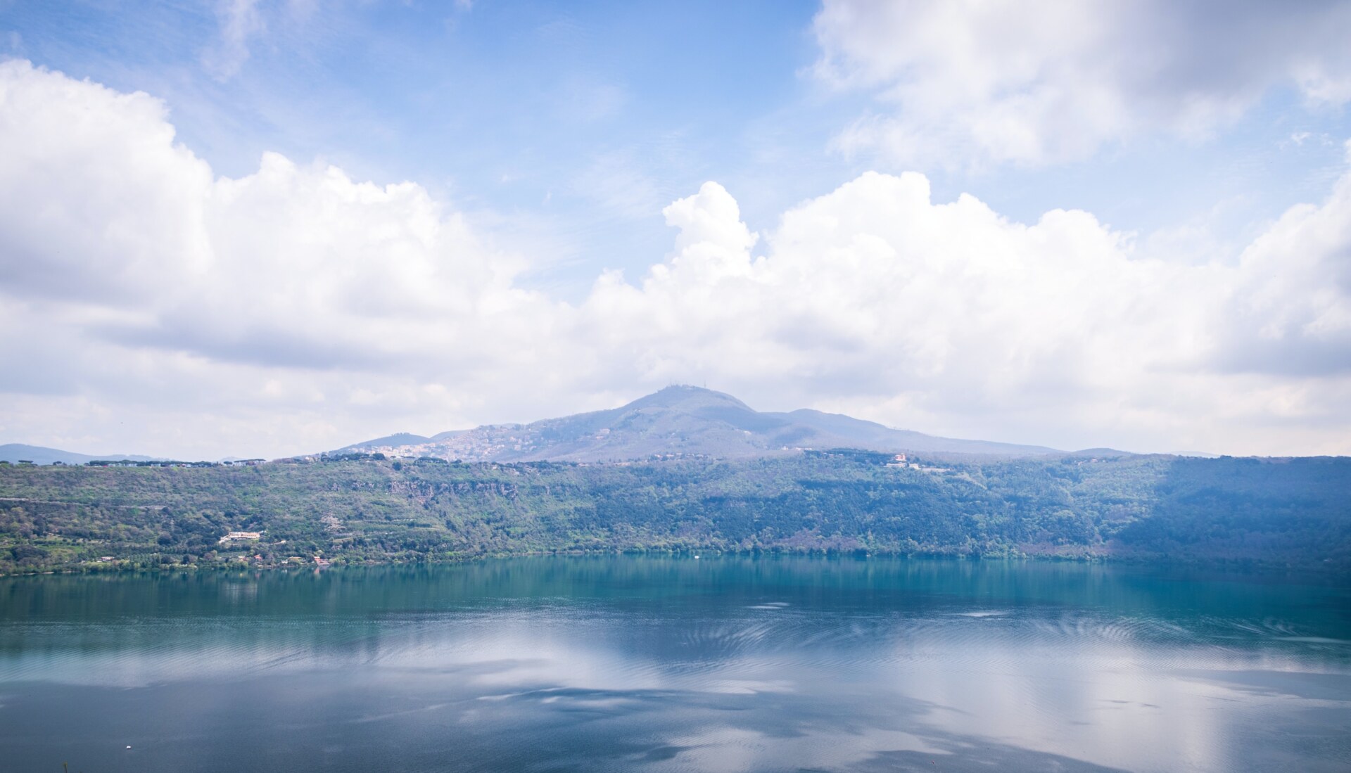
[[[709,557],[3,578],[0,770],[62,762],[1344,772],[1351,592]]]

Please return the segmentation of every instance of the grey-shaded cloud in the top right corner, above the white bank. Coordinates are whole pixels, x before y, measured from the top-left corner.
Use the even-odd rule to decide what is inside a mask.
[[[1204,136],[1273,88],[1351,99],[1351,5],[825,0],[815,72],[877,108],[838,138],[901,164],[1047,164]]]

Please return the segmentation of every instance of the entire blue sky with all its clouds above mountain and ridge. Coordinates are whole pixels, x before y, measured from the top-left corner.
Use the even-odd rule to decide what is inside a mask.
[[[1351,3],[0,0],[0,443],[669,384],[1351,454]]]

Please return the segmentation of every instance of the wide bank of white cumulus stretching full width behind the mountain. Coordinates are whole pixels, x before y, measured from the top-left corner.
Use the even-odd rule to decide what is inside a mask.
[[[1061,447],[1351,451],[1351,174],[1227,261],[917,173],[757,234],[708,182],[665,208],[665,259],[569,304],[417,185],[276,154],[219,177],[143,93],[0,64],[0,146],[12,441],[281,454],[681,381]]]

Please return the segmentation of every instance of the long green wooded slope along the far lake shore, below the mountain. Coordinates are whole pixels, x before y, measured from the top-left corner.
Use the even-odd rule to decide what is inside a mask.
[[[349,455],[0,466],[0,572],[447,561],[540,551],[850,551],[1351,570],[1351,459],[628,465]],[[231,531],[261,539],[222,542]]]

